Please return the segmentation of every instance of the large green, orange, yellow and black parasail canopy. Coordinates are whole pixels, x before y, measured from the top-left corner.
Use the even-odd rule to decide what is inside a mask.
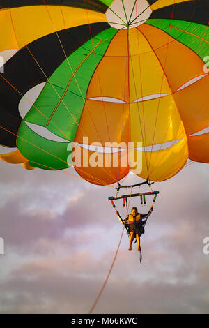
[[[74,165],[98,185],[209,163],[208,12],[208,0],[1,1],[0,144],[15,148],[1,160]]]

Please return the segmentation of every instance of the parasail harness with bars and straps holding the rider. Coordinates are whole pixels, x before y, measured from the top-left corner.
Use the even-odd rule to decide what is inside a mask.
[[[132,194],[132,188],[134,187],[137,187],[137,186],[141,186],[141,185],[144,185],[144,184],[148,184],[148,186],[150,187],[151,191],[150,192],[147,192],[147,193],[134,193]],[[127,200],[131,197],[140,197],[140,200],[141,200],[141,206],[144,206],[146,205],[146,196],[148,195],[154,195],[153,197],[153,204],[155,203],[155,200],[157,198],[157,195],[159,194],[159,191],[153,191],[151,185],[154,184],[154,182],[150,183],[150,181],[148,181],[148,179],[144,182],[141,182],[139,184],[134,184],[134,185],[131,185],[131,186],[121,186],[121,184],[118,183],[118,186],[116,187],[116,196],[115,197],[108,197],[108,200],[110,200],[114,210],[116,211],[116,214],[118,215],[118,218],[119,220],[121,221],[121,223],[123,223],[126,231],[127,231],[127,234],[130,236],[130,229],[129,229],[129,226],[127,225],[127,223],[125,223],[126,221],[126,218],[125,220],[123,220],[119,214],[119,212],[116,210],[116,205],[114,204],[114,200],[123,200],[123,207],[127,207]],[[130,194],[127,194],[127,195],[119,195],[118,196],[118,193],[120,191],[121,188],[131,188],[131,193]],[[146,222],[148,220],[148,216],[150,216],[151,212],[153,211],[152,207],[150,209],[150,211],[148,212],[147,214],[147,217],[144,221],[142,221],[142,224],[141,224],[141,233],[139,235],[139,237],[141,236],[141,234],[144,234],[144,227],[146,225]],[[142,214],[143,215],[143,214]],[[142,220],[142,218],[141,218]],[[137,242],[137,240],[135,239],[135,243]],[[139,251],[140,251],[140,263],[141,263],[141,260],[142,260],[142,253],[141,253],[141,243],[139,243]]]

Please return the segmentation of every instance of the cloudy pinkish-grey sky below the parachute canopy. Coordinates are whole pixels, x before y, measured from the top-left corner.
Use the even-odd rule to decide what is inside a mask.
[[[0,163],[1,313],[88,313],[104,283],[123,229],[108,201],[115,193],[66,176]],[[194,163],[154,184],[160,195],[141,237],[142,264],[123,232],[93,313],[208,313],[208,182],[208,165]],[[146,213],[150,204],[136,197],[130,207]]]

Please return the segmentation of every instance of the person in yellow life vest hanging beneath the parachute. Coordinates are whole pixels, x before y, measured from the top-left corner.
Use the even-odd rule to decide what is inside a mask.
[[[132,250],[132,242],[134,238],[137,239],[137,245],[138,245],[138,251],[140,251],[140,236],[144,233],[144,225],[148,219],[148,216],[153,211],[153,205],[150,207],[150,210],[147,214],[141,214],[138,213],[137,207],[132,207],[132,212],[123,220],[119,214],[119,212],[116,210],[116,214],[118,216],[118,219],[123,225],[125,225],[125,228],[127,229],[128,234],[130,234],[130,241],[129,241],[129,248],[128,250]]]

